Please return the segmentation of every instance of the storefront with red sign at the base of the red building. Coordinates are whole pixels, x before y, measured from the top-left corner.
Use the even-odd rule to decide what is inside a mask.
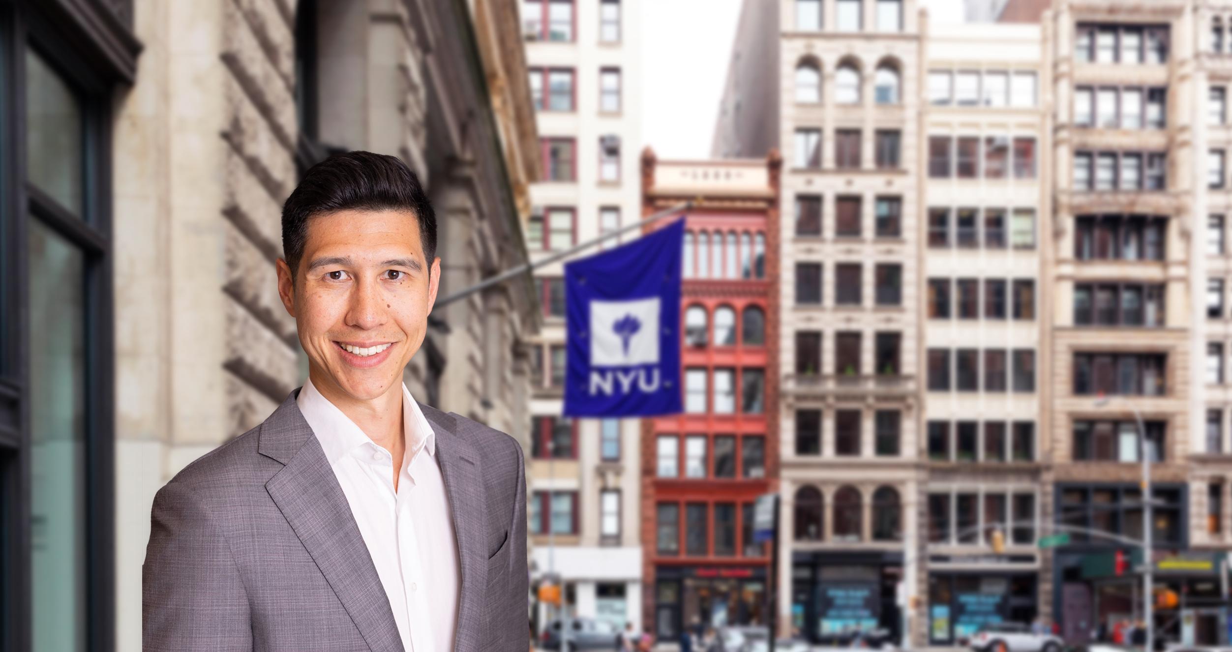
[[[654,629],[675,640],[684,627],[765,625],[765,566],[659,566]]]

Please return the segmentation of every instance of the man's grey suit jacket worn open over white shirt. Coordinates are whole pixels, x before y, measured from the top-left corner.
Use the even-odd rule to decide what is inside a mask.
[[[154,497],[142,572],[145,650],[402,650],[372,557],[298,393]],[[420,408],[436,433],[457,535],[455,650],[525,651],[521,446],[469,419]]]

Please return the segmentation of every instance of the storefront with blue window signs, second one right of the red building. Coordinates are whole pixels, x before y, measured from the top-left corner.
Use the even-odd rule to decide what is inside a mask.
[[[1037,605],[1039,581],[1034,572],[929,573],[929,645],[965,646],[986,625],[1030,625],[1037,615]]]

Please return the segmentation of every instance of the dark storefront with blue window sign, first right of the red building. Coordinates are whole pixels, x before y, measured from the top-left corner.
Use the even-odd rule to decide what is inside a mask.
[[[877,627],[898,640],[902,558],[898,552],[796,552],[792,629],[814,643],[841,643]]]

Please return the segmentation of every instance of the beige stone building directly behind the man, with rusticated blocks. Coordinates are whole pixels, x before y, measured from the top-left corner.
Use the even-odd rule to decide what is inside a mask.
[[[303,381],[274,271],[281,206],[302,171],[335,150],[404,159],[436,208],[441,298],[526,260],[540,143],[519,7],[2,11],[25,67],[5,73],[16,99],[5,123],[37,155],[6,163],[6,187],[30,180],[21,201],[36,212],[0,238],[25,288],[0,292],[12,335],[0,472],[14,488],[0,514],[15,532],[0,606],[17,624],[0,647],[137,650],[154,492]],[[524,344],[541,314],[530,275],[436,309],[408,386],[529,447]]]

